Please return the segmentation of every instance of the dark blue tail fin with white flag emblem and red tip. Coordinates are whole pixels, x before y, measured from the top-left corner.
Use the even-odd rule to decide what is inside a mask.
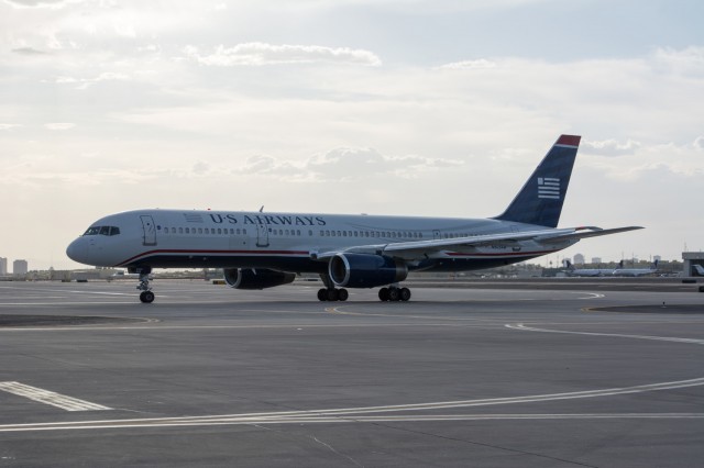
[[[514,201],[495,219],[557,227],[580,138],[560,135]]]

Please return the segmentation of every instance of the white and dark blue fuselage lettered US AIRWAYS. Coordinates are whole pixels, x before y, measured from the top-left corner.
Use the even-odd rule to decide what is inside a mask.
[[[320,254],[381,252],[389,244],[422,243],[539,229],[494,219],[139,210],[95,222],[67,248],[94,266],[153,268],[272,268],[323,272]],[[453,246],[431,254],[403,253],[410,270],[470,270],[549,254],[576,239],[532,239]]]

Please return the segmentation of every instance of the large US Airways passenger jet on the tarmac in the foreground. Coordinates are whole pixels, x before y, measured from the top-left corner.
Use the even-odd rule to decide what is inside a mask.
[[[138,274],[145,303],[154,301],[153,268],[222,268],[230,287],[257,290],[318,274],[320,301],[345,301],[345,288],[376,287],[382,301],[407,301],[410,290],[400,282],[409,271],[505,266],[582,238],[642,229],[557,227],[580,140],[561,135],[494,218],[134,210],[96,221],[66,254]]]

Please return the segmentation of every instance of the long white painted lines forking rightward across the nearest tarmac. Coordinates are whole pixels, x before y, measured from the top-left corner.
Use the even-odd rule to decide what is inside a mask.
[[[386,406],[340,408],[330,410],[282,411],[268,413],[216,414],[210,416],[150,417],[132,420],[75,421],[57,423],[3,424],[0,432],[68,431],[98,428],[208,426],[232,424],[302,424],[302,423],[365,423],[365,422],[424,422],[424,421],[481,421],[481,420],[566,420],[566,419],[704,419],[704,413],[612,413],[612,414],[383,414],[415,411],[435,411],[469,406],[486,406],[536,401],[596,398],[615,394],[679,389],[704,385],[704,378],[660,382],[635,387],[587,390],[570,393],[537,394],[481,400],[441,401]],[[381,413],[381,414],[380,414]],[[370,415],[371,414],[371,415]]]

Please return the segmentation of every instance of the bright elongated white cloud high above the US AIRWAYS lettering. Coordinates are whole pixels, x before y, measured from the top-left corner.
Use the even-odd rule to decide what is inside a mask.
[[[219,45],[210,55],[201,55],[197,47],[189,45],[184,48],[184,54],[199,64],[220,67],[312,63],[382,65],[382,60],[374,53],[363,49],[319,45],[273,45],[261,42],[238,44],[229,48]]]

